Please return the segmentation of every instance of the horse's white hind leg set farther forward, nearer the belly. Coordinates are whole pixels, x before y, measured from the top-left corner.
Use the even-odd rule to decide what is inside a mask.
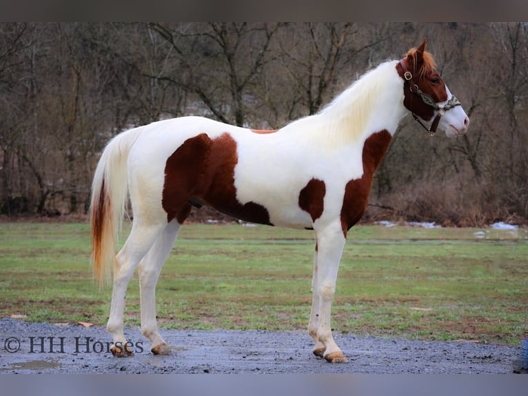
[[[169,346],[159,335],[156,323],[156,283],[161,268],[174,246],[181,224],[172,220],[160,235],[147,255],[139,263],[139,291],[141,297],[141,333],[152,344],[154,355],[168,355]]]

